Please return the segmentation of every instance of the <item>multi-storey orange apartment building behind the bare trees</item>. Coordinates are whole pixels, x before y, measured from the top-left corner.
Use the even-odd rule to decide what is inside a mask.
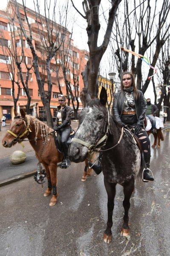
[[[14,117],[14,100],[12,96],[12,81],[11,81],[11,74],[8,68],[8,64],[12,61],[10,58],[8,52],[6,51],[6,47],[11,47],[11,31],[10,31],[10,17],[13,17],[14,12],[14,2],[11,0],[9,1],[6,11],[0,10],[0,117],[6,116],[7,120],[11,120]],[[23,23],[24,28],[26,31],[29,31],[28,24],[26,23],[26,17],[24,14],[23,6],[21,4],[18,4],[19,11],[20,11],[20,17]],[[38,23],[41,22],[41,20],[38,20],[36,17],[36,13],[34,10],[31,10],[29,8],[26,8],[26,14],[29,19],[29,23],[32,30],[32,42],[35,47],[36,53],[38,55],[38,63],[39,63],[39,72],[43,75],[43,64],[42,64],[42,46],[40,44],[40,35],[39,30],[41,26],[38,26]],[[41,17],[42,20],[44,17]],[[22,60],[22,48],[21,43],[23,44],[23,51],[24,51],[24,61],[21,64],[22,71],[23,71],[23,79],[26,79],[26,68],[25,63],[28,67],[32,66],[32,52],[31,49],[29,49],[29,45],[27,44],[27,41],[25,38],[21,38],[19,34],[17,34],[17,31],[20,30],[20,26],[17,19],[14,19],[14,29],[15,29],[15,42],[14,44],[17,47],[17,58],[19,60]],[[68,42],[70,40],[70,32],[67,30],[64,35],[60,35],[61,37],[65,37],[64,44],[67,46]],[[45,38],[46,40],[46,38]],[[69,72],[70,77],[70,84],[71,89],[74,95],[74,80],[78,79],[79,84],[79,91],[81,92],[83,85],[83,79],[81,76],[81,71],[85,69],[86,62],[88,60],[88,52],[85,50],[80,50],[76,46],[74,46],[74,41],[71,39],[71,48],[69,50],[70,54],[70,60],[69,60],[69,67],[67,72]],[[79,70],[79,76],[74,70]],[[58,79],[56,78],[56,72],[55,70],[59,70],[58,72]],[[52,116],[55,116],[56,108],[59,105],[58,104],[58,95],[61,94],[59,91],[59,84],[61,85],[62,94],[66,95],[66,86],[65,81],[63,79],[63,71],[61,68],[61,61],[59,54],[57,53],[57,61],[56,58],[52,58],[52,61],[50,63],[50,72],[51,72],[51,79],[52,79],[52,98],[50,102],[50,108],[52,112]],[[46,73],[45,73],[46,76]],[[78,77],[77,77],[78,76]],[[19,79],[20,80],[20,79]],[[18,80],[18,81],[19,81]],[[20,82],[20,81],[19,81]],[[58,84],[59,83],[59,84]],[[31,96],[31,105],[30,105],[30,113],[33,116],[42,117],[45,119],[45,111],[43,108],[43,103],[40,99],[40,92],[38,90],[37,80],[34,73],[34,69],[32,68],[29,71],[29,81],[28,81],[28,87],[29,87],[29,94]],[[45,92],[48,90],[47,83],[44,84],[44,90]],[[17,96],[18,93],[18,86],[17,84],[14,85],[14,95]],[[74,102],[75,106],[77,105],[76,101]],[[82,104],[79,99],[79,109],[82,109]],[[20,91],[19,91],[19,99],[17,101],[17,111],[19,112],[20,108],[25,108],[27,104],[27,96],[26,92],[20,83]],[[72,107],[72,103],[70,103],[70,107]],[[74,114],[73,114],[74,115]]]

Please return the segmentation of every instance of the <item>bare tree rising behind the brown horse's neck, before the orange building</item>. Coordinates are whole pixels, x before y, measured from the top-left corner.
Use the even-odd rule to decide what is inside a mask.
[[[56,22],[56,17],[55,17],[56,0],[53,2],[53,8],[51,8],[51,1],[48,2],[47,0],[44,0],[44,11],[45,11],[44,17],[40,14],[40,6],[38,1],[36,2],[35,11],[36,11],[36,24],[37,24],[37,31],[38,31],[37,38],[35,38],[35,34],[32,35],[32,26],[29,22],[29,17],[27,15],[27,10],[26,10],[24,0],[22,1],[22,3],[23,3],[23,9],[24,9],[29,31],[27,31],[23,26],[23,23],[20,17],[19,4],[17,3],[16,0],[15,0],[15,6],[17,8],[14,11],[16,11],[17,13],[17,18],[18,18],[18,22],[20,24],[21,30],[32,52],[33,67],[34,67],[35,76],[37,79],[41,101],[43,102],[43,106],[46,112],[47,123],[50,127],[53,127],[52,113],[50,110],[50,100],[52,96],[50,63],[52,61],[52,58],[55,57],[56,52],[61,46],[61,45],[58,45],[58,40],[57,40],[58,37],[61,35],[65,35],[66,33],[68,3],[66,4],[65,9],[63,6],[65,15],[60,16],[60,17],[64,17],[64,26],[62,26],[62,25],[58,25],[58,23]],[[21,7],[22,6],[20,6],[20,8]],[[50,13],[51,9],[52,9],[52,14]],[[60,24],[61,23],[62,22],[60,19]],[[45,74],[44,74],[45,76],[43,77],[41,76],[40,70],[38,67],[39,59],[38,59],[38,54],[37,54],[35,45],[33,44],[33,41],[32,41],[33,39],[36,39],[36,41],[39,41],[41,48],[44,50],[43,54],[45,57]],[[48,91],[44,90],[45,83],[47,83],[48,85]]]

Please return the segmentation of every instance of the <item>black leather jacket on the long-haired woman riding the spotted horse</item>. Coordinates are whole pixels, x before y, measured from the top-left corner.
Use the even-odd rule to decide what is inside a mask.
[[[121,113],[123,111],[124,106],[124,98],[125,93],[122,94],[122,92],[115,93],[114,100],[113,100],[113,119],[117,122],[121,122]],[[134,98],[134,93],[133,93]],[[146,102],[144,100],[143,93],[138,90],[138,99],[135,99],[135,108],[136,108],[136,114],[137,114],[137,124],[144,126],[144,119],[145,119],[145,112],[147,109]]]

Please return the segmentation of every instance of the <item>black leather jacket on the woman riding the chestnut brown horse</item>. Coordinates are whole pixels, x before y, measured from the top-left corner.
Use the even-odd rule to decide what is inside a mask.
[[[69,127],[69,125],[71,124],[71,117],[72,117],[72,110],[69,106],[66,106],[64,108],[61,109],[61,106],[58,106],[57,107],[58,111],[56,113],[56,118],[55,118],[55,123],[54,125],[55,126],[59,126],[58,125],[58,117],[57,117],[57,114],[59,111],[61,111],[61,120],[62,120],[62,123],[60,125],[61,128],[66,128],[66,127]]]

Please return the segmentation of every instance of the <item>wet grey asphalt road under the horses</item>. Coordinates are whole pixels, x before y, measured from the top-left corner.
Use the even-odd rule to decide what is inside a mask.
[[[152,149],[153,183],[136,183],[131,198],[130,236],[120,235],[123,190],[117,185],[113,239],[102,240],[107,222],[103,174],[81,182],[84,163],[58,168],[58,203],[49,207],[33,177],[0,187],[0,256],[170,255],[170,131]],[[151,135],[151,143],[153,135]]]

